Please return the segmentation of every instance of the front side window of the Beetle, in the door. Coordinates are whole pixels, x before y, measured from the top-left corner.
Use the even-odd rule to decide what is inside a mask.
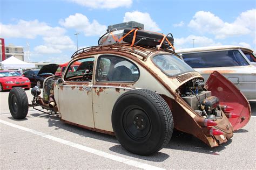
[[[92,72],[94,65],[94,58],[80,59],[76,62],[73,62],[69,66],[69,72],[66,73],[64,80],[66,81],[92,81]],[[77,67],[76,70],[72,70],[72,67]]]

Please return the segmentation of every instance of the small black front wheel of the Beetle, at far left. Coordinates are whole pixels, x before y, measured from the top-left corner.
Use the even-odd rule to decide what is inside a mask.
[[[29,102],[21,87],[12,88],[8,97],[9,109],[14,119],[24,119],[28,115]]]

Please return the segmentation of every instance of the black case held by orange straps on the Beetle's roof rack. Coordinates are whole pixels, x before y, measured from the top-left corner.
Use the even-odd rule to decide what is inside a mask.
[[[125,36],[126,33],[129,33],[132,29],[125,29],[123,36]],[[126,36],[123,41],[132,43],[134,31],[131,32],[128,36]],[[143,40],[141,40],[144,38]],[[143,45],[143,46],[149,46],[149,47],[156,47],[157,45],[160,44],[161,40],[164,38],[161,34],[150,32],[150,31],[145,31],[145,30],[138,30],[136,32],[136,39],[134,43],[139,41],[136,45]],[[174,39],[172,36],[167,36],[167,39],[171,42],[173,45]],[[161,48],[168,48],[170,45],[168,42],[165,40],[163,44],[161,45]]]

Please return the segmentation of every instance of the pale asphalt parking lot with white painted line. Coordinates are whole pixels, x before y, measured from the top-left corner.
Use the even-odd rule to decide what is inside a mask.
[[[26,91],[29,101],[30,91]],[[0,169],[255,169],[256,100],[250,122],[226,144],[210,148],[175,132],[170,143],[148,157],[127,152],[113,136],[85,130],[29,109],[17,121],[8,108],[9,92],[0,93]]]

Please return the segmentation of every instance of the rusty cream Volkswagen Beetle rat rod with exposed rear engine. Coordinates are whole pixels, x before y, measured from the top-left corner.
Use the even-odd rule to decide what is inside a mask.
[[[76,71],[68,72],[78,62]],[[113,134],[126,150],[140,155],[165,147],[173,128],[218,146],[251,116],[244,95],[218,72],[205,83],[170,49],[134,44],[80,49],[62,77],[44,80],[43,97],[37,87],[31,93],[28,104],[23,89],[10,91],[12,117],[24,119],[29,107],[39,106],[66,123]]]

